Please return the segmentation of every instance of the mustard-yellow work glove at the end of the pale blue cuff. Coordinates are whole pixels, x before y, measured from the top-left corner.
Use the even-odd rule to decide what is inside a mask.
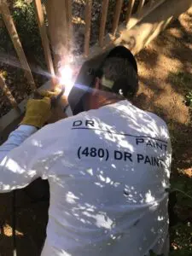
[[[51,115],[51,102],[49,97],[42,100],[28,100],[26,114],[20,125],[32,125],[41,128]]]

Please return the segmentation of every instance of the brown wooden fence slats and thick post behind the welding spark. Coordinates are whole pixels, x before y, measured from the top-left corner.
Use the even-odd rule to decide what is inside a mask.
[[[65,53],[70,52],[70,42],[73,41],[73,1],[47,0],[45,3],[45,8],[43,8],[43,3],[41,0],[33,0],[33,2],[36,9],[39,33],[44,49],[44,58],[50,76],[53,78],[52,84],[54,84],[55,72],[57,72],[56,67],[58,62],[61,61],[61,55],[64,54],[63,49],[65,50]],[[112,23],[110,40],[108,40],[108,37],[106,37],[106,26],[108,21],[108,9],[110,0],[102,0],[100,29],[98,32],[98,42],[96,43],[96,49],[106,49],[108,44],[113,43],[113,41],[119,37],[119,25],[126,29],[131,29],[132,26],[135,26],[137,22],[142,20],[143,17],[148,15],[154,9],[158,8],[158,6],[163,2],[165,2],[165,0],[129,0],[127,6],[125,6],[123,0],[116,0],[113,9],[113,20],[110,21]],[[84,1],[84,53],[82,54],[82,58],[84,60],[91,57],[90,29],[92,3],[92,0]],[[48,18],[49,32],[45,26],[44,9],[46,9],[46,15]],[[123,18],[122,11],[125,13]],[[6,0],[0,1],[0,13],[9,32],[9,36],[14,44],[15,51],[20,61],[20,66],[25,71],[28,84],[30,84],[32,90],[36,90],[37,88],[32,77],[32,72],[26,60],[24,49],[20,43],[20,36],[16,31],[15,23],[10,14],[9,5]],[[62,48],[61,50],[59,49],[60,47]],[[95,55],[96,54],[97,51],[95,52]],[[12,107],[19,111],[14,97],[11,96],[8,86],[6,86],[5,82],[1,78],[0,87],[3,90],[3,93],[6,94],[6,96],[9,98],[9,102],[11,103]]]

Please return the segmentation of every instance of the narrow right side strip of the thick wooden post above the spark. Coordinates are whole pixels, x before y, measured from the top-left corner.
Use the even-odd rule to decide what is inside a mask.
[[[66,20],[67,20],[67,47],[70,51],[71,41],[73,36],[73,27],[72,27],[72,0],[66,1]]]

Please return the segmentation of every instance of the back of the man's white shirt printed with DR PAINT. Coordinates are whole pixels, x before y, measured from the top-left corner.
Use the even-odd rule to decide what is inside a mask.
[[[49,125],[24,150],[27,143],[44,148],[38,169],[50,185],[42,255],[167,252],[171,144],[163,120],[121,101]]]

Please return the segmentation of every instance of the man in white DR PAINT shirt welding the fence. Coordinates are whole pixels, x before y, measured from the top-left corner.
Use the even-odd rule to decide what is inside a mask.
[[[137,89],[133,56],[109,55],[84,112],[43,127],[50,99],[30,100],[1,146],[1,192],[49,181],[41,255],[168,255],[171,142],[160,117],[131,103]]]

